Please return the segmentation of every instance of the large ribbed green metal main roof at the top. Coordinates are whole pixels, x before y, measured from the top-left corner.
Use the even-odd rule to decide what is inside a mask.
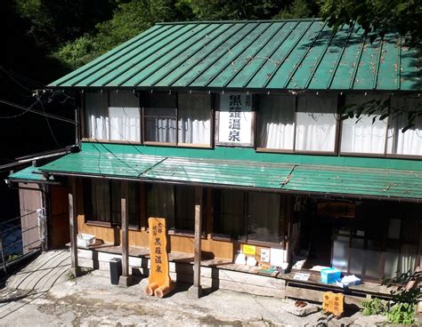
[[[398,35],[369,43],[322,20],[158,24],[52,87],[421,90],[421,55]]]

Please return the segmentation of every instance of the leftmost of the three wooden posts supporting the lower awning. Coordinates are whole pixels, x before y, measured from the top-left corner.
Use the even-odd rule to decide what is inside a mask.
[[[69,227],[70,227],[70,269],[69,273],[77,277],[80,268],[77,265],[77,187],[75,178],[69,177]]]

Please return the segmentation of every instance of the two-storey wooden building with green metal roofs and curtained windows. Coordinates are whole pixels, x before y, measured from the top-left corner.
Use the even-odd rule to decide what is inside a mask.
[[[195,271],[197,286],[321,300],[341,289],[318,267],[337,267],[364,281],[346,302],[388,297],[381,278],[420,263],[422,116],[401,132],[421,109],[420,53],[362,33],[321,20],[157,24],[49,85],[80,95],[77,150],[10,179],[61,183],[48,195],[70,199],[74,268],[107,269],[123,252],[124,275],[146,273],[147,220],[162,217],[174,280]],[[374,110],[341,120],[344,108]],[[80,233],[102,243],[77,251]],[[282,268],[259,274],[269,266]]]

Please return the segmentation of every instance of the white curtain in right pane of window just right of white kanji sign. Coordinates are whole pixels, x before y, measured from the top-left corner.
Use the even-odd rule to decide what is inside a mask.
[[[337,97],[299,96],[296,150],[333,152],[336,144]]]

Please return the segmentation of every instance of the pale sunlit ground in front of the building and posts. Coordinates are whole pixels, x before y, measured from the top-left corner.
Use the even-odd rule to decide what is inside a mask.
[[[288,299],[253,296],[234,291],[212,291],[189,299],[180,284],[165,299],[143,294],[146,279],[129,288],[110,284],[100,271],[55,284],[43,293],[0,293],[0,326],[316,326],[376,325],[384,316],[361,313],[329,319],[321,312],[297,317],[283,307]],[[206,290],[207,291],[207,290]]]

